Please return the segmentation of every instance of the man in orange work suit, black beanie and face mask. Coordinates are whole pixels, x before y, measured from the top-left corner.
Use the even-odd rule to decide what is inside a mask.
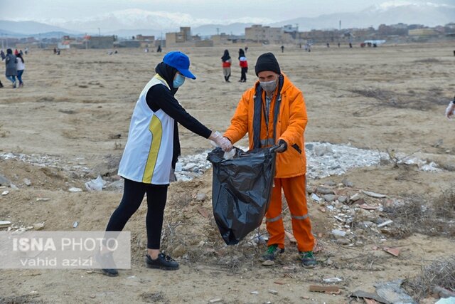
[[[243,93],[224,136],[235,143],[248,133],[250,149],[279,145],[274,188],[265,215],[269,241],[267,252],[261,258],[262,265],[273,265],[274,259],[284,252],[283,189],[301,263],[313,268],[316,266],[312,251],[314,236],[306,207],[304,131],[307,117],[304,96],[281,73],[272,53],[257,58],[255,72],[259,81]]]

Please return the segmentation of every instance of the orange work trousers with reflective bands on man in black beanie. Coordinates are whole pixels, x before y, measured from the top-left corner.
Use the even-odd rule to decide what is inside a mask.
[[[314,236],[311,234],[311,222],[306,207],[306,177],[290,177],[274,179],[272,198],[269,209],[265,214],[267,232],[269,233],[268,246],[278,244],[284,248],[284,225],[282,218],[282,189],[291,212],[292,233],[297,241],[299,251],[312,251]]]

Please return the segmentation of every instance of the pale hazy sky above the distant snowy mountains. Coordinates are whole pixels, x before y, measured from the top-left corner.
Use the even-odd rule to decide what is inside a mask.
[[[282,21],[321,14],[361,11],[369,6],[389,3],[455,5],[455,0],[0,0],[0,20],[41,21],[45,19],[82,19],[110,11],[143,9],[186,13],[194,18],[237,19],[267,18]],[[10,4],[14,4],[10,6]],[[9,6],[11,9],[7,9]]]

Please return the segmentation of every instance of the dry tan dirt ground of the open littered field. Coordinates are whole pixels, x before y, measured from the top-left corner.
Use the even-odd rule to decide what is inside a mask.
[[[387,200],[419,196],[431,204],[454,185],[454,123],[444,110],[455,94],[455,42],[390,45],[378,48],[314,47],[311,53],[279,46],[251,47],[247,83],[238,83],[238,46],[230,46],[232,83],[225,83],[220,57],[224,48],[182,49],[191,58],[196,80],[186,80],[176,94],[184,108],[212,130],[223,132],[240,95],[255,81],[255,59],[272,51],[282,71],[304,92],[309,124],[307,142],[350,144],[385,152],[414,153],[437,162],[441,172],[383,164],[350,170],[343,176],[309,180],[335,182],[337,194],[361,189],[387,195]],[[169,51],[169,50],[164,50]],[[134,103],[163,53],[137,49],[106,51],[31,50],[25,57],[25,86],[13,90],[2,76],[0,89],[0,154],[25,154],[26,161],[2,159],[0,174],[18,189],[0,196],[0,220],[16,226],[45,222],[45,231],[101,231],[121,199],[118,190],[85,189],[97,174],[113,182],[127,140]],[[180,127],[182,154],[210,149],[208,140]],[[246,140],[240,145],[246,146]],[[46,162],[38,166],[36,159]],[[27,186],[24,179],[29,179]],[[343,179],[353,187],[339,187]],[[332,183],[333,184],[333,183]],[[0,192],[5,189],[0,189]],[[196,194],[205,194],[203,201]],[[37,201],[38,198],[48,200]],[[368,203],[387,204],[371,199]],[[263,245],[247,240],[224,246],[211,214],[211,171],[191,182],[171,184],[166,207],[163,247],[176,258],[176,272],[143,265],[146,204],[127,224],[132,231],[132,269],[107,278],[97,271],[1,270],[0,300],[5,303],[348,303],[355,290],[374,291],[373,284],[410,278],[422,266],[455,252],[453,236],[416,234],[405,237],[359,236],[350,245],[333,239],[333,214],[309,200],[320,251],[317,268],[306,270],[288,244],[282,261],[271,268],[257,258]],[[73,228],[73,222],[79,226]],[[287,228],[289,228],[287,214]],[[1,229],[5,231],[6,229]],[[393,229],[391,229],[392,231]],[[443,231],[444,232],[444,231]],[[400,256],[382,251],[399,247]],[[341,294],[309,291],[323,278],[343,281]],[[327,284],[326,284],[327,285]],[[269,290],[276,290],[272,294]],[[252,293],[257,291],[258,293]],[[359,301],[358,303],[362,303]]]

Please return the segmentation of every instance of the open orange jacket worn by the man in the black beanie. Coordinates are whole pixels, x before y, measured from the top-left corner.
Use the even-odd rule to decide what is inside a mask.
[[[304,95],[301,90],[291,83],[286,75],[284,76],[281,91],[281,104],[279,107],[279,117],[277,120],[277,133],[274,142],[279,140],[287,142],[287,150],[277,154],[277,178],[296,177],[306,174],[306,157],[304,146],[304,132],[308,118],[306,116],[306,106]],[[259,81],[257,82],[259,83]],[[250,149],[253,147],[253,118],[255,113],[255,91],[256,85],[243,93],[237,110],[232,117],[231,125],[226,130],[224,136],[233,143],[241,140],[248,132]],[[265,125],[264,115],[261,115],[261,140],[273,137],[273,116],[274,103],[277,92],[270,104],[269,110],[269,132]],[[262,105],[265,105],[265,95],[262,95]]]

